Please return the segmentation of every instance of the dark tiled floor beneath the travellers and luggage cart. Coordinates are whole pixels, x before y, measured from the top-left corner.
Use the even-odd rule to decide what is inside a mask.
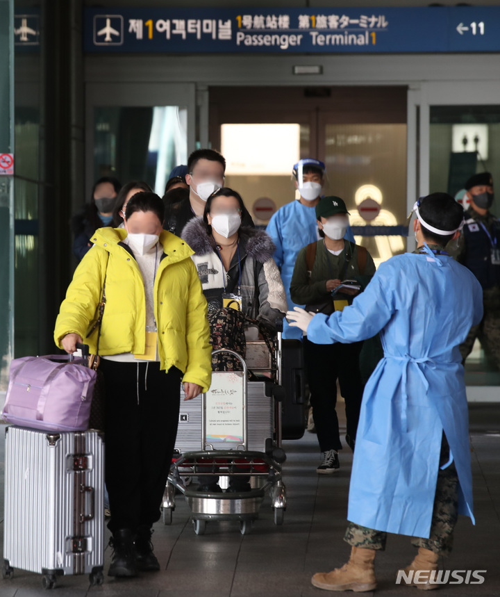
[[[1,429],[3,439],[3,428]],[[484,584],[449,584],[440,597],[500,595],[500,405],[471,405],[472,466],[476,526],[460,518],[456,548],[444,561],[449,570],[486,570]],[[3,501],[3,441],[0,500]],[[340,472],[317,475],[316,438],[306,433],[284,445],[288,452],[285,482],[288,509],[285,523],[276,528],[267,499],[251,534],[242,536],[238,523],[209,523],[206,534],[192,530],[190,512],[177,498],[172,526],[158,523],[153,541],[162,570],[117,581],[106,577],[102,587],[89,589],[87,578],[61,578],[57,597],[85,595],[133,597],[299,597],[321,596],[310,585],[316,571],[343,564],[349,546],[342,541],[346,525],[351,453],[344,449]],[[1,505],[3,512],[3,504]],[[27,513],[28,514],[28,513]],[[395,571],[410,562],[413,548],[406,537],[390,536],[385,553],[376,559],[377,595],[416,595],[416,589],[394,583]],[[110,550],[106,551],[106,567]],[[0,597],[35,597],[47,593],[40,576],[15,571],[12,580],[0,580]]]

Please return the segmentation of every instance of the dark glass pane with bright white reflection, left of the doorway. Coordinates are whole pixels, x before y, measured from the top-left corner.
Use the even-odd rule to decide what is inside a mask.
[[[163,195],[172,168],[188,161],[183,106],[94,108],[94,179],[144,180]]]

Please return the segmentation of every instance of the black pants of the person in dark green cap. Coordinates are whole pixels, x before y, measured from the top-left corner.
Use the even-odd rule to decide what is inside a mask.
[[[345,399],[347,435],[352,440],[356,439],[364,389],[359,368],[362,347],[363,342],[315,344],[304,338],[304,364],[321,452],[342,449],[335,411],[337,379]]]

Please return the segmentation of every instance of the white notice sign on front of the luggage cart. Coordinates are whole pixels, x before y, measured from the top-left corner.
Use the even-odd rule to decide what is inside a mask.
[[[243,441],[243,390],[240,371],[217,371],[206,393],[206,443]]]

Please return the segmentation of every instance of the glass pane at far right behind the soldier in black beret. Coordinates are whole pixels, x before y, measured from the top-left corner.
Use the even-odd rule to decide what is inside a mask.
[[[472,174],[491,172],[497,188],[500,184],[500,106],[431,106],[430,119],[429,189],[447,191],[467,209],[462,198]],[[498,199],[490,211],[500,215]],[[465,382],[500,385],[499,363],[481,339],[465,361]]]

